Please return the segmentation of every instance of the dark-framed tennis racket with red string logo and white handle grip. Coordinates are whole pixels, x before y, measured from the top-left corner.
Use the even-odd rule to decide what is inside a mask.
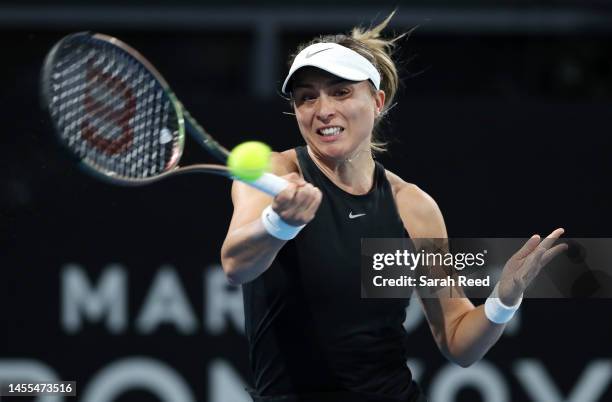
[[[229,152],[191,117],[161,74],[111,36],[79,32],[49,51],[41,94],[60,143],[85,171],[121,185],[181,173],[231,179]],[[185,132],[221,164],[179,167]],[[274,196],[288,182],[270,173],[247,184]]]

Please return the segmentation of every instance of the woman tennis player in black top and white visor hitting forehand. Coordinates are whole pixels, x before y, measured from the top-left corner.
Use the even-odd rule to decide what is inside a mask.
[[[426,400],[406,366],[418,347],[402,326],[408,300],[360,298],[361,238],[447,237],[434,200],[373,158],[398,86],[395,39],[380,36],[391,17],[298,49],[282,91],[305,145],[272,163],[291,184],[274,199],[233,185],[221,257],[243,288],[256,402]],[[467,367],[493,346],[531,279],[562,250],[551,247],[562,233],[529,239],[484,305],[420,299],[450,361]]]

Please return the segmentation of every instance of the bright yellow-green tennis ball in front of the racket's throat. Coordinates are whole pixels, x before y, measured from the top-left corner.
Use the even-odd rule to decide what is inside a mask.
[[[268,170],[271,152],[263,142],[243,142],[230,152],[227,167],[232,176],[247,182],[255,181]]]

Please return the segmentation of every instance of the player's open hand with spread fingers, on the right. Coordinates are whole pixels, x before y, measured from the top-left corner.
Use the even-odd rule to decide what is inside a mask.
[[[499,300],[506,306],[514,306],[542,269],[550,260],[567,249],[567,244],[553,243],[559,239],[564,230],[554,230],[544,240],[533,235],[506,263],[499,280]]]

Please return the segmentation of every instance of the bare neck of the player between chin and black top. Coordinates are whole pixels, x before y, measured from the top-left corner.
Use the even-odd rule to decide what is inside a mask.
[[[334,184],[351,194],[365,194],[374,181],[374,158],[368,149],[358,149],[344,159],[332,159],[318,153],[310,146],[308,154],[317,167]]]

